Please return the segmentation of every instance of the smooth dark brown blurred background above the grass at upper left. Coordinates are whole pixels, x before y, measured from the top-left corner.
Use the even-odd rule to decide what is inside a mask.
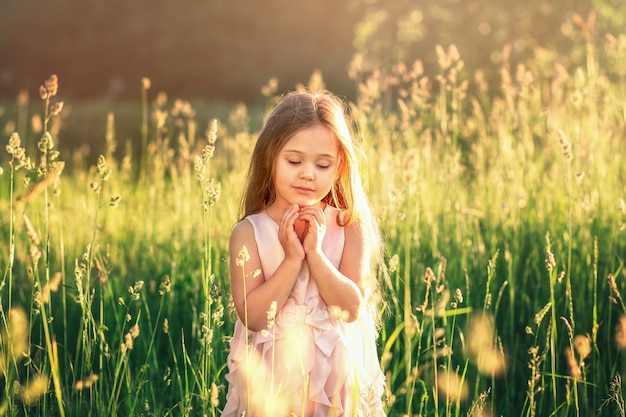
[[[336,0],[0,0],[0,88],[57,73],[66,96],[138,97],[147,76],[175,95],[245,99],[311,68],[343,83],[355,22]]]

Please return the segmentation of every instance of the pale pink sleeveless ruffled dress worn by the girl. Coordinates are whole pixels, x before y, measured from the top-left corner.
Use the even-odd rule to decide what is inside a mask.
[[[337,209],[327,207],[324,213],[327,230],[322,250],[339,267],[344,228],[337,224]],[[278,224],[267,212],[247,219],[254,228],[267,279],[284,258]],[[385,379],[372,316],[362,311],[353,323],[336,316],[305,265],[273,327],[250,332],[237,320],[222,416],[384,416]]]

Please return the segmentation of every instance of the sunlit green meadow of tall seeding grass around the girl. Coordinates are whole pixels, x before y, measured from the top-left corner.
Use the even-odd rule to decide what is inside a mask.
[[[454,46],[434,74],[355,56],[390,416],[626,415],[626,37],[578,46],[504,50],[495,85]],[[219,415],[255,116],[143,79],[138,137],[112,109],[101,153],[64,152],[64,82],[0,119],[0,415]]]

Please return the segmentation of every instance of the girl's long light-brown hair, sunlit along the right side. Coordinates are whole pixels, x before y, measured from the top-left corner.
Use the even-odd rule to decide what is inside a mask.
[[[302,129],[321,124],[328,128],[339,152],[338,178],[322,201],[341,210],[341,225],[359,222],[369,244],[374,278],[384,268],[378,221],[374,216],[361,179],[365,156],[360,137],[353,133],[347,106],[328,91],[298,90],[287,93],[271,111],[252,153],[240,208],[240,220],[260,213],[276,198],[274,163],[282,147]],[[378,293],[376,279],[368,285],[368,299]],[[371,299],[370,299],[371,301]]]

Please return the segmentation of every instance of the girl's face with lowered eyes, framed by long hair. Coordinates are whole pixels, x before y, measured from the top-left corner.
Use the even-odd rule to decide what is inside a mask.
[[[300,130],[278,152],[274,162],[276,201],[282,209],[319,204],[337,179],[339,152],[322,124]]]

